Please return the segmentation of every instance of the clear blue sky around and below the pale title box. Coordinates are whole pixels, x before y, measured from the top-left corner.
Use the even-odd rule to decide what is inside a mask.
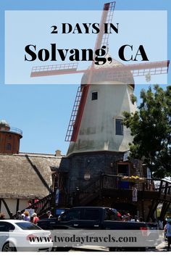
[[[62,154],[66,154],[69,143],[64,141],[64,137],[67,132],[79,80],[78,85],[73,84],[72,77],[69,79],[69,84],[61,85],[5,84],[4,12],[7,10],[101,10],[106,2],[105,0],[0,0],[0,120],[7,120],[12,127],[22,130],[23,138],[20,142],[20,152],[54,154],[59,149]],[[167,59],[171,59],[170,0],[118,0],[115,9],[167,10]],[[30,17],[30,22],[31,20],[32,17]],[[145,20],[146,17],[144,17],[144,22]],[[155,29],[159,29],[159,35],[161,35],[161,29]],[[21,40],[25,38],[27,33],[27,29],[21,31]],[[137,31],[137,33],[140,33],[140,31]],[[12,28],[11,34],[16,36],[17,31],[15,33],[14,28]],[[20,36],[17,35],[17,38]],[[158,49],[159,52],[162,51],[161,47]],[[16,53],[14,52],[14,54]],[[14,68],[17,70],[17,62]],[[20,66],[17,72],[22,77]],[[169,71],[167,83],[170,84],[170,81]],[[137,97],[141,88],[148,88],[148,86],[135,86]]]

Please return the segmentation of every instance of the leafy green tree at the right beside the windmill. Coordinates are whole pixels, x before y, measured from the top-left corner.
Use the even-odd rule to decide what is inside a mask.
[[[133,135],[130,157],[143,160],[154,177],[171,176],[171,86],[142,90],[138,111],[123,115]]]

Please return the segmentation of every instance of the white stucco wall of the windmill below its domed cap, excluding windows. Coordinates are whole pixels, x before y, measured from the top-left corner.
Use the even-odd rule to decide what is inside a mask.
[[[91,100],[93,91],[98,99]],[[76,142],[71,142],[67,154],[76,152],[112,151],[125,152],[133,140],[130,130],[124,127],[123,136],[115,134],[115,119],[122,118],[122,112],[135,112],[130,94],[133,88],[123,83],[103,82],[92,84],[80,124]]]

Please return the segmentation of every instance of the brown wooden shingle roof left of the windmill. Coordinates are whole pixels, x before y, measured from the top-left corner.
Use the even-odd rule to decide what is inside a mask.
[[[49,194],[51,166],[62,157],[46,154],[0,154],[0,198],[31,199]]]

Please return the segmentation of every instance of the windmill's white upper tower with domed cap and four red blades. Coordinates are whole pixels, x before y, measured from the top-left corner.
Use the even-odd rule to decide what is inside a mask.
[[[115,1],[104,4],[104,9],[101,16],[100,28],[105,22],[106,23],[112,22],[115,4],[116,4]],[[103,30],[100,29],[100,33],[96,38],[96,45],[95,45],[94,52],[96,51],[96,49],[101,49],[101,46],[107,46],[108,39],[109,39],[109,33],[103,33]],[[125,145],[128,145],[128,142],[131,141],[131,136],[128,134],[128,131],[126,131],[124,139],[121,137],[118,137],[118,135],[123,135],[123,134],[116,134],[117,136],[113,138],[111,134],[113,129],[112,121],[110,122],[111,128],[109,129],[109,127],[107,127],[107,125],[109,125],[108,120],[105,118],[104,119],[99,118],[99,121],[96,122],[96,124],[94,124],[93,127],[89,127],[89,123],[93,122],[93,117],[90,119],[89,113],[88,113],[88,112],[91,112],[91,108],[88,107],[88,104],[90,105],[90,100],[93,101],[92,104],[95,102],[96,98],[98,97],[97,94],[99,90],[102,92],[101,94],[103,94],[104,97],[107,97],[105,90],[109,91],[108,94],[117,94],[117,95],[129,94],[129,96],[131,96],[133,94],[133,88],[134,88],[133,77],[144,76],[148,74],[157,75],[157,74],[167,73],[169,63],[170,63],[169,61],[161,61],[161,62],[148,62],[145,64],[122,65],[120,62],[113,61],[112,65],[103,65],[103,67],[97,68],[93,61],[91,64],[91,67],[88,68],[87,70],[78,70],[78,63],[70,63],[70,64],[64,64],[64,65],[49,65],[49,66],[33,67],[30,76],[38,77],[38,76],[46,76],[46,75],[64,75],[64,74],[71,75],[73,73],[84,73],[82,78],[82,86],[78,88],[78,92],[75,97],[75,104],[72,109],[70,123],[68,125],[67,135],[65,137],[65,141],[70,141],[69,154],[72,152],[81,152],[81,151],[90,152],[91,150],[101,151],[101,150],[110,150],[110,149],[113,149],[114,151],[124,152],[128,149],[128,146],[125,146]],[[101,81],[103,82],[108,81],[109,86],[107,87],[106,85],[105,88],[102,88]],[[114,82],[114,81],[117,81],[117,82]],[[99,84],[100,88],[96,86],[97,83]],[[111,86],[111,83],[115,86]],[[128,85],[126,89],[125,89],[125,86],[123,86],[123,83],[124,85],[125,84]],[[93,88],[91,88],[92,84],[95,85]],[[92,91],[91,95],[90,95],[90,88]],[[120,96],[120,101],[122,101],[122,95]],[[131,105],[129,96],[128,95],[125,96],[127,97],[127,99],[124,99],[125,105],[128,106],[126,109],[122,109],[123,104],[122,102],[119,102],[118,97],[117,97],[118,99],[117,98],[114,99],[115,102],[117,102],[118,100],[117,103],[113,104],[112,107],[107,106],[107,111],[111,111],[111,116],[110,116],[110,119],[111,119],[112,110],[114,110],[114,108],[115,109],[118,108],[118,104],[120,105],[120,110],[118,110],[116,115],[114,115],[115,129],[117,129],[117,126],[120,129],[120,120],[121,120],[122,111],[124,110],[128,110],[131,112],[135,111],[135,106]],[[91,97],[91,99],[89,99],[88,97],[89,98]],[[88,99],[89,99],[89,103],[88,103]],[[101,102],[101,104],[99,104],[99,107],[95,107],[95,108],[101,109],[103,108],[104,105],[107,105],[107,101]],[[111,110],[109,110],[110,108]],[[83,118],[83,115],[85,115],[84,118]],[[95,111],[91,112],[91,115],[92,116],[94,115],[94,119],[96,119],[96,116],[100,116],[100,114],[96,115]],[[103,115],[105,116],[105,113],[103,113]],[[105,128],[103,127],[102,123],[107,123]],[[81,125],[83,127],[81,127]],[[101,127],[99,127],[100,125]],[[104,136],[103,146],[99,145],[101,144],[101,142],[97,142],[100,140],[98,137],[101,136],[100,134],[99,136],[97,135],[97,133],[99,133],[99,129],[101,129],[100,133],[103,133],[103,136]],[[102,132],[102,129],[104,129],[104,132]],[[106,136],[107,133],[109,134],[109,137]],[[122,131],[118,131],[118,133],[122,133]],[[78,136],[78,134],[80,134],[80,137]],[[88,136],[89,136],[89,139],[88,139]],[[93,138],[95,138],[96,140],[95,144],[93,144]],[[115,143],[114,140],[117,142]],[[112,141],[112,143],[110,143],[109,141]],[[82,145],[80,146],[80,144]]]

